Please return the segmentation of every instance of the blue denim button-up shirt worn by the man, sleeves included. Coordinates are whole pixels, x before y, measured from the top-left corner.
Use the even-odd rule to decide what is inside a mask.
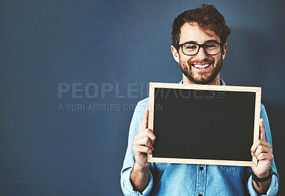
[[[225,85],[224,81],[222,85]],[[133,140],[140,131],[140,123],[148,109],[148,100],[145,98],[138,102],[130,123],[128,148],[120,179],[124,195],[257,195],[252,185],[251,167],[222,165],[151,163],[147,187],[142,193],[133,190],[130,182],[130,172],[135,163]],[[264,119],[266,141],[272,146],[269,120],[262,104],[260,117]],[[271,167],[274,175],[266,195],[276,195],[279,187],[279,175],[274,160]]]

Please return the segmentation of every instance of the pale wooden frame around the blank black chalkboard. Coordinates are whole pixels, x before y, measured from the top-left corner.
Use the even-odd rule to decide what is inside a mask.
[[[154,114],[155,114],[155,88],[175,88],[189,90],[209,90],[209,91],[239,91],[255,93],[255,111],[254,111],[254,141],[259,139],[259,118],[261,104],[261,88],[260,87],[244,87],[244,86],[212,86],[212,85],[188,85],[178,83],[150,83],[149,91],[149,120],[148,128],[153,130]],[[250,150],[250,149],[249,149]],[[202,164],[202,165],[236,165],[236,166],[257,166],[257,158],[252,157],[252,161],[240,160],[205,160],[205,159],[188,159],[188,158],[155,158],[152,154],[147,155],[148,162],[155,163],[185,163],[185,164]]]

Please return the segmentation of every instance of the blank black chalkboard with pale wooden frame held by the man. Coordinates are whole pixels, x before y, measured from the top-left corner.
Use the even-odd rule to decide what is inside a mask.
[[[257,165],[261,88],[150,83],[149,162]]]

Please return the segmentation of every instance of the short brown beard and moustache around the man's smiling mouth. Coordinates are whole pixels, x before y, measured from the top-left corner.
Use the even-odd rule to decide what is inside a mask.
[[[222,55],[218,58],[216,66],[214,67],[214,70],[210,73],[199,73],[199,76],[195,77],[195,73],[192,71],[192,64],[195,63],[201,63],[201,64],[207,64],[207,63],[214,63],[214,61],[181,61],[181,58],[179,58],[179,65],[182,73],[192,82],[196,84],[209,84],[214,81],[214,78],[217,77],[219,74],[219,71],[222,69]],[[211,64],[210,66],[214,66]]]

